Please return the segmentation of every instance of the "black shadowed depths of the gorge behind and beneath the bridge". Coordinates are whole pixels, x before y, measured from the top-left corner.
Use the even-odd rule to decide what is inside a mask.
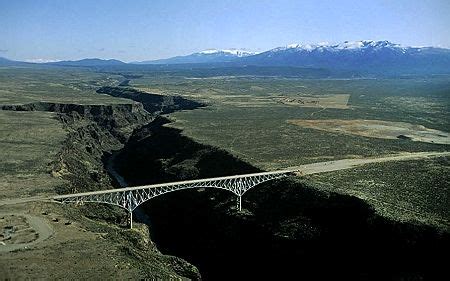
[[[194,142],[158,118],[135,130],[116,157],[130,185],[243,174],[257,169]],[[235,209],[231,193],[178,191],[143,209],[159,249],[204,279],[428,279],[442,273],[448,233],[378,216],[363,201],[295,178],[258,186]]]

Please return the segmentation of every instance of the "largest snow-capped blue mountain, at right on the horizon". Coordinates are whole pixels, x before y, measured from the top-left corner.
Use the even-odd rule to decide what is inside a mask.
[[[363,73],[450,73],[450,50],[389,41],[291,44],[242,58],[247,65],[299,66]]]

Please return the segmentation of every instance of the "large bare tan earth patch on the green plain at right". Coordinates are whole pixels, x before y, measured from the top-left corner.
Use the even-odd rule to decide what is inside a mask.
[[[403,139],[437,144],[450,144],[450,134],[406,122],[381,120],[287,120],[303,128],[380,139]]]

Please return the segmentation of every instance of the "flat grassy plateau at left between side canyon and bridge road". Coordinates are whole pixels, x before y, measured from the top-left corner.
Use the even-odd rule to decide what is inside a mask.
[[[0,200],[54,194],[50,174],[66,132],[50,112],[0,111]]]

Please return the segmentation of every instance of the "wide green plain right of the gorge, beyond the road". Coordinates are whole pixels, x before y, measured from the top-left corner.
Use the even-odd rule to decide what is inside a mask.
[[[264,169],[397,151],[448,150],[446,145],[330,133],[287,123],[291,119],[401,121],[450,131],[450,79],[302,80],[143,77],[131,84],[180,94],[209,107],[171,115],[172,126],[201,142],[225,148]],[[348,109],[277,102],[280,96],[349,94]]]

